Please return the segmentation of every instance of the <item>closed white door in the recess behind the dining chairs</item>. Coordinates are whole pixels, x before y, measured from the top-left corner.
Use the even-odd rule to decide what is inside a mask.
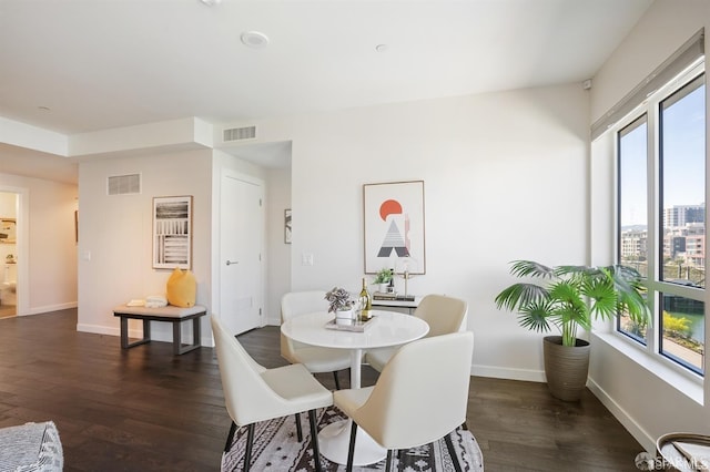
[[[239,335],[263,325],[263,183],[225,171],[221,184],[219,315]]]

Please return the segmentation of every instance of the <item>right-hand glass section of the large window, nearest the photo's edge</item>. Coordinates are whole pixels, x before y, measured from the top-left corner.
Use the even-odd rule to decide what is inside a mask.
[[[659,103],[659,351],[702,372],[704,346],[706,102],[704,74]]]

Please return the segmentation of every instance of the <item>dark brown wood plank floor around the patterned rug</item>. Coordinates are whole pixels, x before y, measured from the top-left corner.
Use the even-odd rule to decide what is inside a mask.
[[[53,420],[68,472],[219,471],[230,419],[213,349],[121,350],[75,326],[75,310],[0,319],[0,427]],[[276,327],[240,340],[264,366],[284,363]],[[363,383],[375,380],[365,367]],[[487,471],[638,470],[641,447],[589,392],[565,403],[541,383],[474,377],[468,424]]]

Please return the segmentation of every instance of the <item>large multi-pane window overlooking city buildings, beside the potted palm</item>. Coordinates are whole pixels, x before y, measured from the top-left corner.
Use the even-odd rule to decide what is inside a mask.
[[[617,260],[648,286],[650,326],[617,330],[703,374],[706,285],[704,65],[690,68],[616,127]]]

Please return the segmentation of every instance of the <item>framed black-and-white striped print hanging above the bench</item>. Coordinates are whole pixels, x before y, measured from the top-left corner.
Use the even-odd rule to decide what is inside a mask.
[[[153,268],[192,268],[192,196],[153,198]]]

